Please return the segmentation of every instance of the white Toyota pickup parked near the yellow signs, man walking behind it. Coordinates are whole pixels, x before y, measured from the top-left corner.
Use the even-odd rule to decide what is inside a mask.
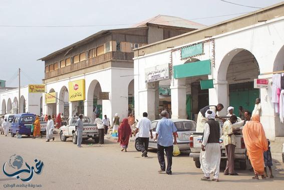
[[[64,125],[59,128],[60,130],[60,140],[66,141],[68,137],[72,137],[72,142],[74,144],[77,144],[77,135],[75,133],[75,124],[79,117],[71,117],[66,122],[64,122]],[[83,117],[83,140],[87,140],[89,138],[92,138],[95,140],[95,142],[99,141],[99,130],[95,124],[91,122],[90,117]]]

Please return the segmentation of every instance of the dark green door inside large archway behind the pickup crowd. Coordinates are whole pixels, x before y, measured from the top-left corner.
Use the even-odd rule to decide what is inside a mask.
[[[234,107],[234,114],[239,116],[238,107],[242,106],[244,110],[252,112],[255,99],[259,97],[259,90],[235,91],[229,93],[230,106]]]

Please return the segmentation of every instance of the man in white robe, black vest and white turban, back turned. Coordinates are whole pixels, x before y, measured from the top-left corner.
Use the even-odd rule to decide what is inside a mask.
[[[208,121],[204,125],[203,140],[200,152],[201,169],[204,172],[204,177],[201,180],[210,180],[210,173],[213,172],[214,181],[219,181],[220,160],[221,160],[221,145],[219,139],[222,136],[222,128],[215,121],[215,112],[207,110],[205,116]]]

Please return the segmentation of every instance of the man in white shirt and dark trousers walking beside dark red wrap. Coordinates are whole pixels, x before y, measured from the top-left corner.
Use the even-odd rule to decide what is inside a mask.
[[[142,152],[142,157],[148,157],[147,151],[148,151],[148,145],[149,145],[149,134],[151,136],[151,139],[153,138],[152,135],[152,125],[151,121],[147,118],[148,114],[147,112],[143,113],[143,118],[138,121],[136,125],[136,130],[134,132],[134,136],[139,130],[138,135],[138,141],[139,141],[139,147]]]

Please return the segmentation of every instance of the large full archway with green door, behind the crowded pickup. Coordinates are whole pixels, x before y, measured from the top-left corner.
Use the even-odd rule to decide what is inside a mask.
[[[223,103],[222,115],[228,106],[234,107],[234,114],[239,115],[238,108],[252,111],[259,90],[254,89],[253,79],[259,75],[258,62],[254,55],[245,49],[237,48],[227,53],[218,70],[218,103]]]

